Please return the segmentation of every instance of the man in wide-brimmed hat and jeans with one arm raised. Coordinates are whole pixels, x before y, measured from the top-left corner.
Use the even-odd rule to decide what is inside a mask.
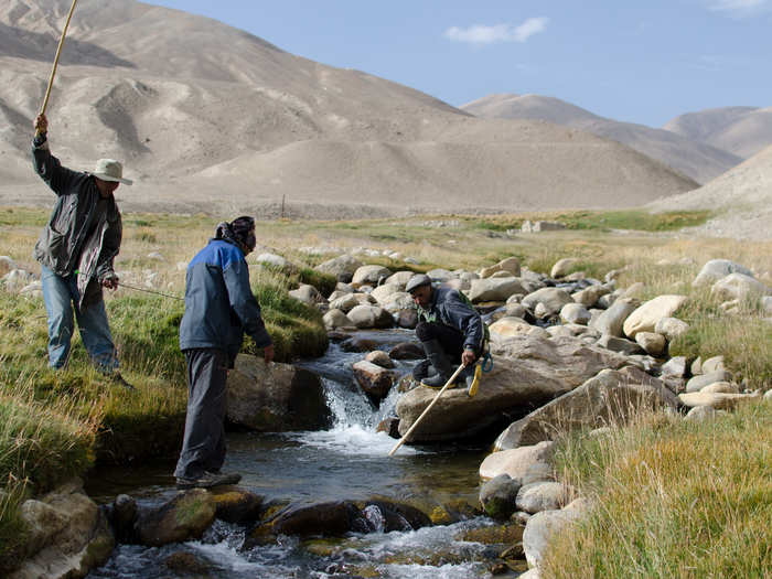
[[[112,159],[99,159],[92,173],[62,167],[49,150],[47,130],[45,115],[39,115],[32,142],[34,168],[57,196],[34,251],[49,317],[49,365],[62,368],[67,364],[74,310],[94,365],[115,383],[133,389],[118,373],[101,291],[103,287],[118,287],[112,261],[120,249],[122,225],[112,194],[120,183],[130,185],[131,181],[124,179],[122,165]]]

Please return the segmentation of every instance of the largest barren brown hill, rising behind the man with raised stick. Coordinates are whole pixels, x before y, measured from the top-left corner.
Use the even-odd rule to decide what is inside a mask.
[[[50,204],[29,140],[68,0],[0,0],[0,203]],[[128,210],[404,213],[641,205],[697,184],[618,142],[471,117],[216,21],[81,0],[49,106],[52,151],[126,163]]]

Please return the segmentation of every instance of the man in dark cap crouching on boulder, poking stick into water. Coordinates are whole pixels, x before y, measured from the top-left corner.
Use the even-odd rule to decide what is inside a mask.
[[[464,364],[460,376],[467,382],[467,394],[474,396],[474,363],[483,354],[486,337],[482,318],[459,291],[433,288],[429,276],[412,276],[405,289],[418,308],[416,336],[427,355],[415,367],[414,377],[423,386],[441,388],[454,366]]]

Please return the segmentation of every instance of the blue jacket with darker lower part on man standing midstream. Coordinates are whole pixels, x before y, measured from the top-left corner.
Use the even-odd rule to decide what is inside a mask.
[[[223,350],[233,367],[245,332],[258,347],[271,344],[260,305],[249,287],[244,254],[229,242],[210,239],[187,265],[180,350]]]

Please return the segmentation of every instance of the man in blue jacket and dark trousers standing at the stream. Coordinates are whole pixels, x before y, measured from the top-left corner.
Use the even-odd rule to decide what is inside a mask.
[[[255,219],[238,217],[217,225],[214,238],[187,266],[180,349],[187,365],[189,397],[185,435],[174,470],[178,489],[208,489],[242,480],[240,474],[219,470],[226,452],[228,369],[245,332],[257,347],[265,349],[266,364],[274,360],[274,344],[249,287],[245,257],[255,245]]]

